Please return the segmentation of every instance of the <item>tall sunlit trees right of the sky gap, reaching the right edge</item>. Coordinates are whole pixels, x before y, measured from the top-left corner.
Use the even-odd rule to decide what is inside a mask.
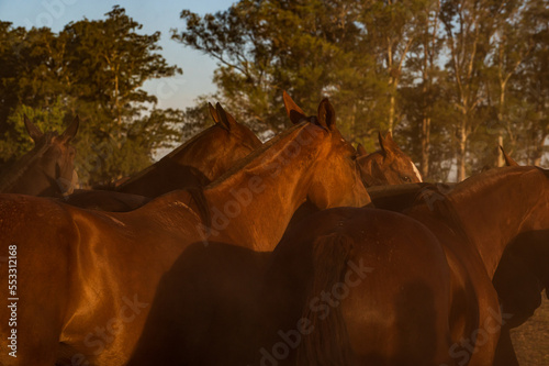
[[[283,129],[288,90],[310,113],[328,96],[371,151],[394,131],[432,180],[503,164],[498,143],[544,163],[549,0],[240,0],[181,19],[172,38],[217,59],[216,97],[257,131]]]

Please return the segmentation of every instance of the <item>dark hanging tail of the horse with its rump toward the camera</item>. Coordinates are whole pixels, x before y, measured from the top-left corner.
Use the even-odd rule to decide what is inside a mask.
[[[309,329],[312,332],[303,336],[296,353],[296,365],[355,364],[340,300],[333,296],[334,290],[344,284],[352,248],[352,239],[337,233],[321,236],[313,244],[313,280],[302,314],[311,324]],[[332,303],[323,300],[323,293],[332,297]]]

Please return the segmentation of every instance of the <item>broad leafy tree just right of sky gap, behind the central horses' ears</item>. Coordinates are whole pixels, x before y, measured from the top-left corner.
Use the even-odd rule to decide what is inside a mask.
[[[256,131],[288,123],[287,90],[310,113],[328,96],[341,130],[360,140],[378,122],[371,107],[380,84],[359,11],[355,1],[242,0],[203,18],[183,10],[186,30],[172,37],[219,60],[223,103]]]

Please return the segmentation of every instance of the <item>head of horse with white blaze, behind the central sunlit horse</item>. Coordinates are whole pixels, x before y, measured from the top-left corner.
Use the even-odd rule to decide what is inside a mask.
[[[423,178],[414,162],[402,152],[391,133],[385,137],[378,134],[381,149],[368,154],[358,145],[358,164],[367,187],[422,182]]]

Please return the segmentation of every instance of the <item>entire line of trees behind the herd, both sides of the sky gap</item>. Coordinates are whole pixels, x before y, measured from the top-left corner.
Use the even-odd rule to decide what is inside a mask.
[[[216,96],[186,112],[143,90],[182,71],[120,7],[58,34],[0,22],[0,169],[32,146],[23,114],[59,131],[79,114],[78,171],[98,184],[211,123],[205,101],[256,132],[281,131],[282,90],[307,113],[328,96],[343,133],[369,151],[393,131],[429,180],[503,164],[497,144],[545,163],[549,0],[240,0],[181,19],[172,38],[219,62]]]

